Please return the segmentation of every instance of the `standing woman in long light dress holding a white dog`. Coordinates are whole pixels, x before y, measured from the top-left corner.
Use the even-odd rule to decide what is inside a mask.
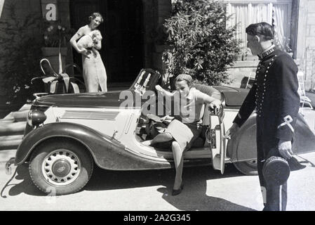
[[[82,54],[83,78],[86,92],[107,92],[107,74],[98,50],[102,48],[102,35],[96,28],[103,22],[100,13],[93,13],[90,24],[81,27],[70,39],[74,49]],[[79,39],[78,42],[76,42]]]

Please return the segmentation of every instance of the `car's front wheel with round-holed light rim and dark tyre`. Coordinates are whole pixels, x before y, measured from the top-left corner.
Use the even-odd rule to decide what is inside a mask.
[[[93,173],[93,158],[72,140],[53,139],[41,143],[29,163],[34,184],[44,193],[67,195],[79,191]]]

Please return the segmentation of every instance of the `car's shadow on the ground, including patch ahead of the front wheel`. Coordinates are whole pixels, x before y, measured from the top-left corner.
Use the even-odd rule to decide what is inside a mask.
[[[9,195],[15,196],[20,193],[27,195],[45,195],[34,186],[27,165],[16,168],[15,179],[8,184]],[[171,189],[175,169],[159,169],[144,171],[111,171],[94,167],[93,175],[88,184],[83,188],[86,191],[107,191],[126,188],[142,188],[147,186],[166,186]],[[211,179],[222,179],[232,176],[243,176],[233,165],[227,165],[224,175],[214,171],[212,167],[185,167],[183,179],[189,188],[189,183],[199,184]],[[199,185],[198,185],[199,186]],[[193,190],[193,189],[192,189]],[[169,190],[170,191],[170,190]]]

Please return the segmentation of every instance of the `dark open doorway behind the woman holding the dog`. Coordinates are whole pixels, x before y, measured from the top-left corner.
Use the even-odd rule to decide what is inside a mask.
[[[74,29],[89,23],[88,16],[100,12],[105,23],[100,54],[110,82],[132,82],[143,67],[143,9],[141,0],[73,0],[70,19]],[[81,55],[73,52],[74,63],[82,67]]]

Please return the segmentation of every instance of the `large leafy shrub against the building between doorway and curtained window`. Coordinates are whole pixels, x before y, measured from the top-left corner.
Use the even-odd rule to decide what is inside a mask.
[[[229,83],[227,65],[237,59],[239,40],[235,27],[226,27],[225,4],[207,0],[179,0],[164,27],[170,46],[163,52],[166,74],[192,75],[196,82]]]

